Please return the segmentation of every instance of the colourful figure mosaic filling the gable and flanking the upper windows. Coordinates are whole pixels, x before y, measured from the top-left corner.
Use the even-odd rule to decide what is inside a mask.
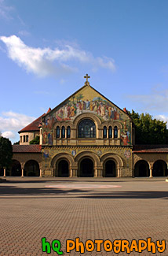
[[[75,117],[82,113],[93,113],[101,121],[122,122],[124,127],[121,131],[122,145],[130,144],[131,128],[127,115],[92,87],[82,88],[46,115],[43,120],[43,144],[53,145],[53,124],[59,121],[74,121]]]

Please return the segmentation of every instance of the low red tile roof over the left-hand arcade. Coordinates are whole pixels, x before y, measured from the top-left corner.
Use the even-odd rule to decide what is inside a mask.
[[[13,153],[41,153],[41,145],[13,145]]]

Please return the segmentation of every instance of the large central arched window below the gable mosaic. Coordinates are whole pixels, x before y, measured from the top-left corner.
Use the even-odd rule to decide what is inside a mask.
[[[90,119],[84,119],[79,123],[79,138],[96,138],[96,126]]]

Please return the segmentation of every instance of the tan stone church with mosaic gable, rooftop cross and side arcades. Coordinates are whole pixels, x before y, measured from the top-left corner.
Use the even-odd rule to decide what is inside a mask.
[[[167,176],[167,145],[135,145],[133,121],[89,85],[20,130],[6,176]],[[39,145],[29,145],[36,135]]]

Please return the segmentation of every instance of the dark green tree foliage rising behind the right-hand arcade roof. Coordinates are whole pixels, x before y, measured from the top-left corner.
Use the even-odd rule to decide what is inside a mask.
[[[153,119],[149,113],[135,113],[133,109],[129,114],[135,125],[135,144],[168,143],[166,122]]]

